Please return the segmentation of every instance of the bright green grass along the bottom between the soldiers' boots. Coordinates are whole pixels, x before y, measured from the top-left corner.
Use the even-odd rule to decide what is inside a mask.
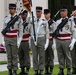
[[[20,70],[18,70],[18,73],[19,73],[19,72],[20,72]],[[58,72],[59,72],[58,65],[55,65],[54,70],[53,70],[53,75],[57,75]],[[66,69],[64,70],[64,72],[65,72],[65,75],[67,75],[67,74],[66,74],[66,73],[67,73],[67,70],[66,70]],[[31,68],[31,69],[30,69],[30,72],[29,72],[29,75],[33,75],[33,74],[34,74],[34,70]],[[0,72],[0,75],[7,75],[7,71]]]

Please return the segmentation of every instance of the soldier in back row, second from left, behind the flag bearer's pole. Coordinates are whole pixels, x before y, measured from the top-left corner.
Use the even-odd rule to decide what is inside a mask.
[[[27,23],[27,16],[28,12],[25,10],[22,14],[22,22],[26,22],[25,25],[23,25],[23,39],[21,41],[20,47],[19,47],[19,62],[20,62],[20,68],[21,72],[20,74],[27,74],[30,69],[30,55],[29,55],[29,31],[28,31],[28,23]],[[26,72],[25,72],[26,67]]]

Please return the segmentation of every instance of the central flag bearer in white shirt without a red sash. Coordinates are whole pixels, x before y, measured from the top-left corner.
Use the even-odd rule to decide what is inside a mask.
[[[33,25],[31,25],[31,48],[33,52],[33,68],[34,75],[43,75],[45,66],[45,50],[49,44],[49,29],[48,23],[42,19],[42,7],[36,7],[36,17],[34,18],[36,43],[34,42]]]

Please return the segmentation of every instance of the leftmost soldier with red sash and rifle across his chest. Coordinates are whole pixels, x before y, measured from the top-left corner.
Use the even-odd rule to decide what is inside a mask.
[[[7,23],[16,15],[16,4],[9,4],[9,15],[4,18],[3,29],[7,27]],[[20,18],[15,22],[13,26],[9,28],[9,32],[7,32],[3,37],[5,43],[6,51],[7,51],[7,60],[8,60],[8,75],[17,75],[18,69],[18,47],[20,45],[22,35],[23,35],[23,26],[21,25]],[[18,35],[19,31],[19,35]],[[17,41],[18,36],[18,41]]]

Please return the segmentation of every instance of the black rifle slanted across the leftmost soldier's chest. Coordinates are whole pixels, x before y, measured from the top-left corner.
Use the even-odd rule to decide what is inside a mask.
[[[13,17],[13,19],[10,20],[10,21],[7,23],[7,27],[6,27],[5,29],[3,29],[2,32],[1,32],[3,35],[5,35],[7,32],[10,31],[9,28],[10,28],[11,26],[13,26],[16,21],[18,21],[19,16],[22,14],[22,12],[23,12],[23,10],[21,10],[21,12],[19,13],[19,15],[15,15],[15,16]]]

